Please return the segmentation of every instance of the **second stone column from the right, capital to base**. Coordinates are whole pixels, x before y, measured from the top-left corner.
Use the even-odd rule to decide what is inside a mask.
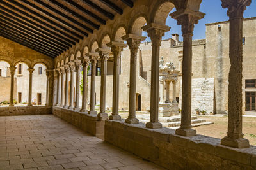
[[[191,74],[192,74],[192,36],[194,24],[198,23],[204,13],[195,11],[176,11],[170,14],[182,26],[183,62],[182,62],[182,113],[181,125],[175,133],[182,136],[196,136],[196,130],[191,127]]]

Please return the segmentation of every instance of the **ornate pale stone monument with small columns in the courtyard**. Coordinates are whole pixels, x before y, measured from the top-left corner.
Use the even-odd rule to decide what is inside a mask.
[[[179,103],[176,101],[176,84],[178,81],[178,73],[172,62],[167,62],[164,65],[163,57],[159,64],[159,81],[160,81],[160,101],[159,101],[159,116],[170,117],[179,115]],[[164,101],[164,83],[166,84],[166,97]],[[172,102],[169,99],[170,83],[173,85]]]

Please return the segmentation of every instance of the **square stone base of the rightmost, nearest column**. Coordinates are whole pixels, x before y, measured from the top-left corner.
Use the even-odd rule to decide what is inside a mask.
[[[239,139],[233,139],[228,136],[225,136],[221,139],[221,145],[230,146],[232,148],[249,148],[250,143],[248,139],[239,138]]]

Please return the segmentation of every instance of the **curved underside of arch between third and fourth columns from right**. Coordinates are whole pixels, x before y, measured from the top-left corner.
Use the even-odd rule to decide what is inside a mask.
[[[132,20],[132,24],[129,29],[129,32],[131,32],[132,34],[141,36],[142,35],[141,27],[143,27],[147,23],[147,19],[145,17],[146,17],[145,15],[139,15],[135,18],[135,20]]]

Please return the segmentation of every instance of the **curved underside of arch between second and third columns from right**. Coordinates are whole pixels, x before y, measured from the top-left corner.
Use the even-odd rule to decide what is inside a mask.
[[[152,13],[151,21],[159,25],[165,25],[166,19],[170,11],[173,10],[173,8],[176,8],[177,10],[177,6],[175,6],[175,1],[159,1],[159,3],[155,5],[155,10],[152,10],[156,12]]]

